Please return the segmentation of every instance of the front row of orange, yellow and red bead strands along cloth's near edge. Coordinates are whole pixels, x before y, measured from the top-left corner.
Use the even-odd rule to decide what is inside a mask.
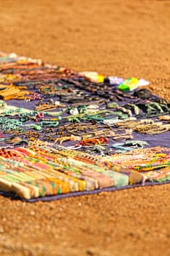
[[[150,172],[157,168],[166,180],[170,176],[169,152],[169,148],[158,147],[98,157],[37,140],[27,148],[1,149],[0,187],[31,199],[144,184],[146,180],[158,179]]]

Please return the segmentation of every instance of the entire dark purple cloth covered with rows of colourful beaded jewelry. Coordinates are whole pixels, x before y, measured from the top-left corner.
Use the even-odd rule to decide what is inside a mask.
[[[0,52],[0,190],[30,199],[169,181],[170,102],[148,84]]]

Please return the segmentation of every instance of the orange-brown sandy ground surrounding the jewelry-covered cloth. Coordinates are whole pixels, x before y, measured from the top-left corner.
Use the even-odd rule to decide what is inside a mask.
[[[169,0],[1,0],[0,50],[136,76],[170,99]],[[50,203],[0,197],[0,255],[170,255],[170,185]]]

